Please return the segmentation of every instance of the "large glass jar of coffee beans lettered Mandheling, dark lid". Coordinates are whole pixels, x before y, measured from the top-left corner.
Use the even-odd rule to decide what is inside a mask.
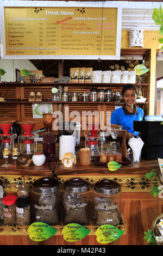
[[[48,225],[60,223],[60,186],[55,178],[40,178],[33,183],[32,221]]]

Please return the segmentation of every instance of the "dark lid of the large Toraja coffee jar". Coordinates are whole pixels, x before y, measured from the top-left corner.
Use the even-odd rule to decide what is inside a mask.
[[[68,179],[64,183],[64,189],[68,192],[81,193],[89,190],[89,182],[80,178]]]

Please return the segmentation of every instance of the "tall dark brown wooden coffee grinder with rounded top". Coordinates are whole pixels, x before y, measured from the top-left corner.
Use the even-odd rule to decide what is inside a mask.
[[[57,135],[52,132],[52,124],[54,118],[51,112],[42,114],[43,124],[46,127],[45,135],[43,136],[43,154],[46,156],[46,161],[57,161],[55,157],[55,142],[57,141]]]

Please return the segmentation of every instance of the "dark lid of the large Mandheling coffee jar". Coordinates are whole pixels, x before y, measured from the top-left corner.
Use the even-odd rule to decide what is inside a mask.
[[[59,181],[50,177],[38,179],[33,183],[33,190],[41,194],[53,193],[58,189]]]

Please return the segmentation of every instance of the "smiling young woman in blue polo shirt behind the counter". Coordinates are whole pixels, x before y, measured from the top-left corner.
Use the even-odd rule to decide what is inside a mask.
[[[127,84],[122,89],[124,105],[116,109],[111,114],[111,124],[122,125],[122,129],[127,130],[126,138],[129,139],[136,135],[133,129],[133,121],[143,119],[143,109],[135,106],[137,88],[134,84]]]

